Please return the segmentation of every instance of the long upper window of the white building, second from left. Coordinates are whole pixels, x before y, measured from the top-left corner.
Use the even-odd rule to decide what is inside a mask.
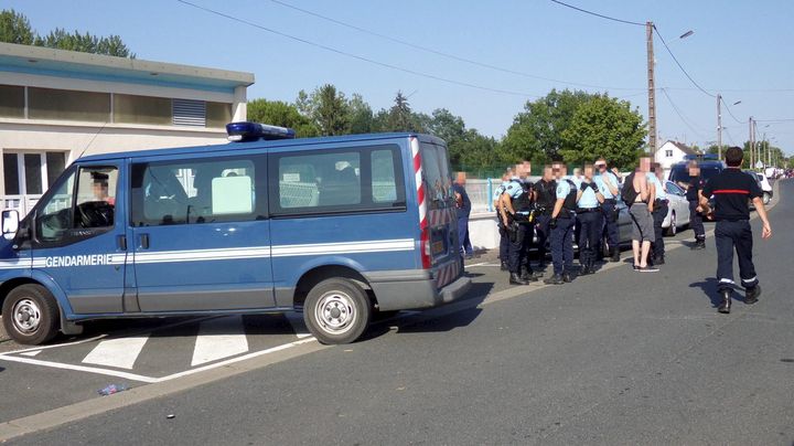
[[[29,87],[28,108],[31,119],[106,123],[110,118],[110,94]]]

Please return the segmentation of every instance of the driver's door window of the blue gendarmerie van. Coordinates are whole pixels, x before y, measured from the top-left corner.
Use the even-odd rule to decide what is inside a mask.
[[[39,208],[36,242],[69,243],[112,227],[117,183],[115,167],[83,167],[67,174]]]

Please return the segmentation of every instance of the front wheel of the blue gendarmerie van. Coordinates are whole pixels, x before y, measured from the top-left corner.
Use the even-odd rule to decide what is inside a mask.
[[[19,343],[37,346],[57,334],[61,317],[57,304],[41,285],[28,284],[11,290],[2,314],[6,332]]]

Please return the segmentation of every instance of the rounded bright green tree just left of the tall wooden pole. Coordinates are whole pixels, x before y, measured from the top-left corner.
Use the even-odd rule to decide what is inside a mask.
[[[643,151],[643,117],[625,100],[607,95],[581,104],[561,132],[566,162],[582,164],[604,157],[620,168],[633,166]]]

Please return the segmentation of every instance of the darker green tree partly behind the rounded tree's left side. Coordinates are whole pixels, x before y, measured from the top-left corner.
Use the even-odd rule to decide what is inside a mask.
[[[502,157],[512,161],[530,159],[536,163],[558,158],[562,130],[568,128],[579,106],[591,97],[587,92],[552,89],[546,97],[527,102],[502,140]]]

